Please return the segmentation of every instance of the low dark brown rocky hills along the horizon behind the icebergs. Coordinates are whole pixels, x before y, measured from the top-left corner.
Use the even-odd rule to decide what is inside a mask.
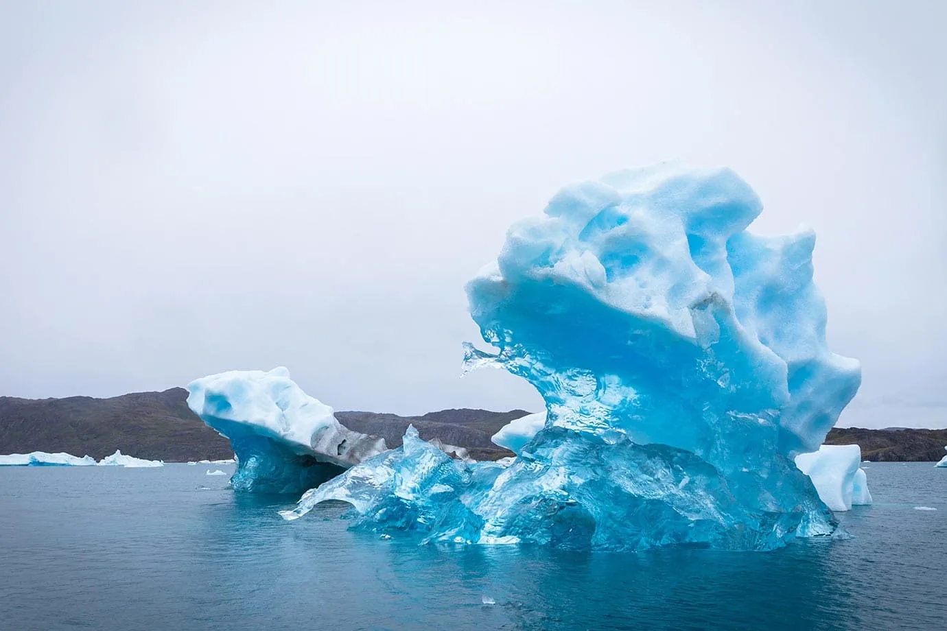
[[[231,458],[230,443],[188,408],[188,391],[23,399],[0,396],[0,453],[66,451],[101,459],[116,449],[138,458],[184,462]],[[465,447],[477,460],[512,455],[490,437],[528,412],[442,410],[421,416],[377,412],[335,412],[348,429],[382,436],[388,447],[402,444],[409,424],[421,438]],[[857,444],[862,458],[875,462],[937,461],[944,455],[947,429],[831,429],[829,445]]]

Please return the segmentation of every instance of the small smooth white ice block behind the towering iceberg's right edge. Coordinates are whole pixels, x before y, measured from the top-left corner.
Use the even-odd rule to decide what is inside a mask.
[[[833,511],[871,503],[865,469],[858,466],[861,462],[862,449],[857,445],[823,445],[795,457],[795,465],[812,478],[819,498]]]

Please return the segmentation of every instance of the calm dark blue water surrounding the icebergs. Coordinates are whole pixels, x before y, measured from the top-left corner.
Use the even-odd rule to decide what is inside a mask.
[[[637,554],[418,547],[341,505],[289,523],[204,465],[0,467],[0,629],[943,628],[947,469],[867,466],[853,538]]]

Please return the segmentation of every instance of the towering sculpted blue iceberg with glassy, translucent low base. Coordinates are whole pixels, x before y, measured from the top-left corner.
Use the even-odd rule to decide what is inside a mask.
[[[308,491],[355,526],[426,541],[563,549],[772,550],[836,524],[795,466],[858,390],[826,344],[815,237],[759,237],[728,169],[676,164],[567,186],[514,224],[467,286],[487,353],[468,369],[527,379],[544,429],[511,464],[404,446]]]

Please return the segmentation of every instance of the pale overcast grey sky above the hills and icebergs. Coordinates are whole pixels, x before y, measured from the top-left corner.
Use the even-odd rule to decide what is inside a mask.
[[[0,0],[0,394],[286,365],[340,410],[538,410],[458,378],[464,283],[563,184],[679,158],[815,229],[842,424],[947,426],[944,32],[939,0]]]

